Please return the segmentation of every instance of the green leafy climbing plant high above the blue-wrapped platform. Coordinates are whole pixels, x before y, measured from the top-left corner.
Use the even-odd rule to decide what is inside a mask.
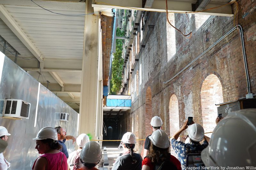
[[[124,31],[117,28],[116,36],[124,36]],[[110,94],[117,94],[122,87],[122,71],[124,59],[122,56],[123,52],[123,40],[116,39],[116,52],[113,53],[113,61],[112,61],[112,79],[110,81]]]

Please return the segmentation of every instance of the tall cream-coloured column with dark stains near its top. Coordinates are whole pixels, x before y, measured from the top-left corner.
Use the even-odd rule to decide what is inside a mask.
[[[93,12],[92,0],[86,0],[85,13]],[[86,133],[96,139],[96,115],[98,101],[98,58],[100,55],[99,16],[85,15],[84,26],[84,54],[82,64],[82,85],[79,112],[78,133]],[[101,58],[101,56],[100,56]]]

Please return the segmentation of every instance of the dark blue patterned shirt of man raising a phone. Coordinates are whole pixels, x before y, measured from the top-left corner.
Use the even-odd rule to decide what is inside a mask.
[[[186,166],[187,161],[187,154],[188,153],[201,153],[208,146],[208,142],[205,140],[203,144],[200,143],[195,144],[192,142],[184,143],[181,141],[177,141],[176,139],[171,140],[172,148],[174,149],[175,153],[178,155],[178,159],[181,163],[181,168],[184,169]]]

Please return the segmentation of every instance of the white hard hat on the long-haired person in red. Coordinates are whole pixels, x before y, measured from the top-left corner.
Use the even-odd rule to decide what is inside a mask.
[[[170,146],[169,136],[162,129],[157,129],[148,138],[159,148],[168,148]]]

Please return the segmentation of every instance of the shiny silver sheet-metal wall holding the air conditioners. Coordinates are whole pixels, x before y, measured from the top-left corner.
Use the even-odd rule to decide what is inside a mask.
[[[7,128],[11,134],[7,141],[8,146],[4,151],[4,157],[11,163],[10,170],[31,169],[34,161],[39,156],[35,149],[37,132],[46,126],[62,126],[66,128],[67,135],[77,135],[78,113],[55,96],[50,90],[40,85],[38,112],[36,127],[36,103],[38,93],[38,81],[17,66],[12,60],[3,57],[0,52],[0,66],[3,70],[0,83],[0,126]],[[0,68],[1,69],[1,68]],[[1,71],[0,71],[1,73]],[[2,117],[4,99],[22,99],[31,103],[29,119],[12,120]],[[69,113],[68,122],[54,120],[55,112]],[[68,151],[74,151],[72,141],[66,142]]]

